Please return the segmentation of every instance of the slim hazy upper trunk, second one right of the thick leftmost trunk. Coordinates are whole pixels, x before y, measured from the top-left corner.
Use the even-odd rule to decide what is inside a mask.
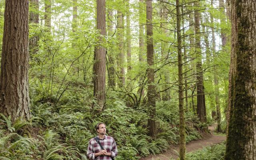
[[[47,32],[51,32],[51,22],[52,22],[51,0],[44,0],[44,25],[47,28]]]

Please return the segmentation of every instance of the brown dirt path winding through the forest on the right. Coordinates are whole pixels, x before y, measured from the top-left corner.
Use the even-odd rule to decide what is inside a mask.
[[[208,129],[211,133],[215,130],[217,124],[213,124],[212,126],[208,126]],[[226,136],[224,135],[216,135],[216,134],[203,134],[201,140],[193,140],[186,144],[186,152],[193,152],[199,149],[202,149],[204,146],[211,146],[213,144],[219,144],[226,140]],[[140,158],[140,160],[170,160],[170,158],[177,159],[179,146],[172,146],[166,152],[150,157]]]

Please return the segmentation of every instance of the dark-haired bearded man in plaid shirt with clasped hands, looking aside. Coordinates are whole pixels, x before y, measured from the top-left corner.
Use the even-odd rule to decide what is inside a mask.
[[[112,160],[117,156],[116,142],[114,138],[106,135],[106,126],[104,123],[98,123],[96,126],[98,132],[99,142],[97,143],[95,138],[90,139],[87,149],[87,157],[90,160]]]

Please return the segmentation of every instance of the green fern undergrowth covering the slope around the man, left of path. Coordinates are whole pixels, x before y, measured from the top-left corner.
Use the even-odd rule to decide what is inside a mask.
[[[74,97],[70,101],[61,99],[58,105],[32,97],[29,121],[19,118],[12,124],[10,117],[0,114],[0,159],[87,160],[88,141],[96,136],[94,128],[98,122],[104,122],[107,134],[116,140],[116,160],[138,160],[178,144],[179,118],[175,102],[157,102],[158,134],[153,139],[147,136],[147,110],[143,106],[128,107],[127,100],[119,98],[116,92],[110,95],[104,112],[98,114],[92,114],[89,105],[79,98],[72,99]],[[189,112],[186,117],[186,142],[200,138],[194,128],[198,120]]]

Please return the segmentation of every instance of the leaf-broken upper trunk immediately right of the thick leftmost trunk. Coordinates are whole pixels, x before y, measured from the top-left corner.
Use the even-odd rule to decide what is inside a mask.
[[[38,0],[30,0],[30,6],[36,10],[36,12],[29,12],[29,23],[30,24],[39,24],[39,2]],[[33,59],[34,54],[38,52],[38,36],[32,36],[29,39],[29,52],[30,52],[30,58]]]

